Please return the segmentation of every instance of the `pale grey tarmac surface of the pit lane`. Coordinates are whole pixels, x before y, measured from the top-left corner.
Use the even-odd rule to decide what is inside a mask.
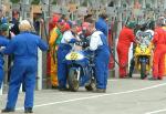
[[[7,94],[0,96],[0,108],[6,105]],[[23,113],[24,94],[20,93],[15,112]],[[163,81],[110,79],[106,93],[35,92],[33,114],[166,114],[166,77]]]

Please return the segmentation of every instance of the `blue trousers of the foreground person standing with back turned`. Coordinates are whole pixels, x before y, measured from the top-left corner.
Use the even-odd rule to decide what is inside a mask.
[[[15,108],[20,85],[25,87],[24,108],[33,107],[37,75],[37,59],[15,59],[11,69],[8,102],[6,108]]]

